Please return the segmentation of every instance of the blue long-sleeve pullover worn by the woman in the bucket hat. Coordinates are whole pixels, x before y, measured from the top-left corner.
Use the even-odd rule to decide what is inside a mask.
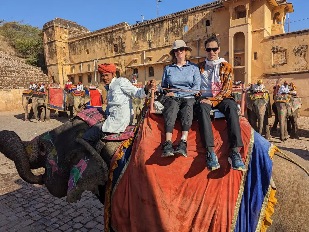
[[[201,75],[195,63],[187,61],[183,66],[170,64],[165,67],[161,86],[170,89],[185,89],[196,91],[172,91],[175,97],[195,96],[200,91]]]

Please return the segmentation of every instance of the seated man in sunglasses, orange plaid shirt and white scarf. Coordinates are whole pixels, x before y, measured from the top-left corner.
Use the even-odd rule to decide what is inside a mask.
[[[220,42],[217,37],[210,37],[205,41],[206,59],[198,63],[201,73],[201,96],[197,97],[194,110],[197,113],[199,131],[202,142],[206,148],[207,170],[220,168],[218,157],[214,152],[214,135],[210,120],[210,111],[218,109],[226,119],[228,140],[230,142],[230,155],[228,161],[232,169],[245,171],[245,165],[239,153],[243,147],[237,103],[231,96],[233,82],[232,65],[224,58],[219,58]]]

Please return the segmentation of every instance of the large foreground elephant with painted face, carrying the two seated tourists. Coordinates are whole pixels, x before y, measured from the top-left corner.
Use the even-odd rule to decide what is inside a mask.
[[[106,142],[99,155],[94,149],[80,144],[80,138],[88,128],[76,117],[29,142],[22,141],[13,131],[1,131],[0,152],[15,162],[24,181],[44,184],[55,197],[66,196],[66,201],[77,202],[83,191],[88,190],[104,204],[108,167],[121,142]],[[309,169],[307,161],[294,153],[281,151]],[[36,176],[31,172],[31,169],[40,167],[44,167],[44,174]],[[272,177],[277,187],[275,197],[278,203],[274,206],[273,225],[267,231],[307,231],[308,175],[276,153]]]

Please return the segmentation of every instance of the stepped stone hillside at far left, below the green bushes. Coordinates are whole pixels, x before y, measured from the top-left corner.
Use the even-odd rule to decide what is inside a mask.
[[[0,89],[27,89],[30,82],[48,83],[40,67],[25,63],[25,59],[0,51]]]

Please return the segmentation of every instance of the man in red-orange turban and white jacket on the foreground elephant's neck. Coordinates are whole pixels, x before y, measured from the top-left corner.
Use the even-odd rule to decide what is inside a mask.
[[[124,77],[116,77],[116,66],[113,63],[98,65],[98,72],[106,84],[108,101],[105,114],[105,121],[100,121],[93,125],[83,135],[83,139],[92,147],[100,138],[111,133],[124,132],[125,128],[133,123],[133,106],[131,96],[142,99],[147,97],[148,90],[155,88],[156,80],[149,80],[144,88],[137,88]]]

